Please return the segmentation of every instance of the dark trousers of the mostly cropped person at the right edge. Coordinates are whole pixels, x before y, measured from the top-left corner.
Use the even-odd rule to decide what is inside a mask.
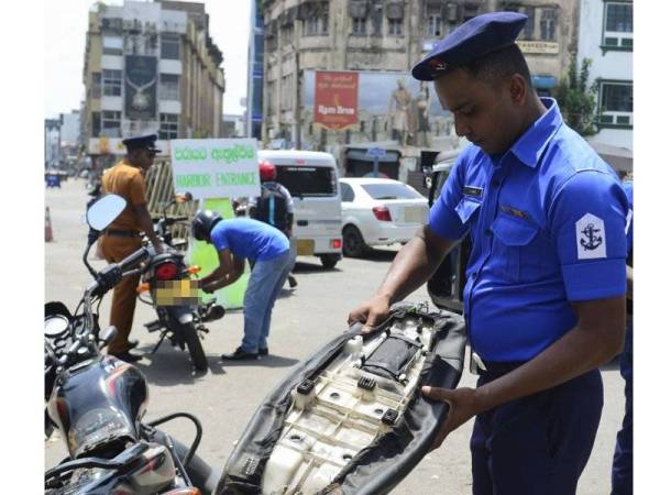
[[[620,356],[622,376],[626,381],[626,413],[616,436],[612,464],[612,495],[632,495],[632,323],[626,331]]]

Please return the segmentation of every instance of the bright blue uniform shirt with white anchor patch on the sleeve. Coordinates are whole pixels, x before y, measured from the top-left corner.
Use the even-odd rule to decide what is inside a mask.
[[[618,177],[541,100],[548,111],[495,163],[461,153],[430,212],[436,234],[471,233],[464,314],[486,361],[528,361],[575,326],[571,301],[626,293]]]

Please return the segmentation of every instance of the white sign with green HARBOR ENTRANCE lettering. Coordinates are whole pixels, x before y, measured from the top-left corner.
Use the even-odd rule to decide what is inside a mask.
[[[195,199],[258,196],[256,140],[172,140],[175,193]]]

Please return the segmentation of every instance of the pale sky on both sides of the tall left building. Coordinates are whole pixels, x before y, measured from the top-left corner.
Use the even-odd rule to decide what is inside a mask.
[[[82,65],[87,18],[96,0],[44,0],[45,9],[45,117],[58,117],[80,107],[84,99]],[[123,4],[106,0],[107,4]],[[224,113],[243,113],[248,94],[250,0],[202,0],[209,30],[222,51],[226,92]]]

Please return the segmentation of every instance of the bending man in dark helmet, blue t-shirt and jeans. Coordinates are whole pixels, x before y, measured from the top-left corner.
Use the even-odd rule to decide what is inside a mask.
[[[289,242],[285,234],[267,223],[250,218],[222,220],[215,211],[195,213],[193,237],[213,244],[220,266],[199,280],[200,288],[212,294],[237,282],[253,263],[243,300],[243,340],[227,361],[254,360],[268,354],[271,315],[275,299],[289,270]]]

